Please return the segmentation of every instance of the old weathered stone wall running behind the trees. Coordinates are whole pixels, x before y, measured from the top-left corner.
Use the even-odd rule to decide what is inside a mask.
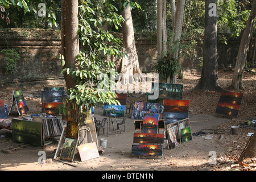
[[[18,61],[18,72],[14,75],[2,75],[0,72],[0,86],[13,84],[14,82],[51,82],[59,80],[64,82],[61,75],[61,63],[58,60],[60,53],[59,39],[32,39],[32,38],[10,38],[0,39],[0,52],[2,49],[19,48],[20,60]],[[220,67],[234,67],[240,40],[229,40],[228,44],[218,44],[218,65]],[[139,40],[136,42],[139,66],[143,73],[152,72],[152,65],[156,59],[156,42],[150,40]],[[197,47],[197,55],[203,56],[203,45]],[[0,53],[0,64],[3,55]],[[117,71],[121,69],[120,60],[113,60],[117,65]],[[183,61],[182,67],[186,69],[198,69],[199,60],[189,57]]]

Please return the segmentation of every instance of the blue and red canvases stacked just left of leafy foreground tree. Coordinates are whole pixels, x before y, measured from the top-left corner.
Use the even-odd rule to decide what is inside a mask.
[[[42,91],[42,113],[58,115],[58,106],[63,102],[63,87],[44,88]]]

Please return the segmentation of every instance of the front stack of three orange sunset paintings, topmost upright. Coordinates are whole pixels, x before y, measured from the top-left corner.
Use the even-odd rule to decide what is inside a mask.
[[[132,155],[163,155],[164,134],[158,133],[159,113],[147,113],[143,118],[142,133],[134,133]]]

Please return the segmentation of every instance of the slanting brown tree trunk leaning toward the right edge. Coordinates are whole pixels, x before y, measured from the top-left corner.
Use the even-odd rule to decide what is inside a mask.
[[[245,30],[242,34],[242,39],[237,55],[236,67],[234,70],[232,84],[230,88],[234,88],[239,91],[243,88],[243,69],[245,68],[247,51],[249,49],[251,35],[253,34],[253,26],[256,17],[256,1],[253,1],[253,7],[251,8],[250,16],[247,20]]]

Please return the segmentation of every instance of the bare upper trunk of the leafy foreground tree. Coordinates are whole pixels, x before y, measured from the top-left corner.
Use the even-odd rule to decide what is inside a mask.
[[[65,1],[65,65],[67,68],[69,65],[75,64],[76,58],[79,55],[79,36],[77,30],[78,19],[78,1],[66,0]],[[76,86],[76,81],[64,73],[67,89]]]

